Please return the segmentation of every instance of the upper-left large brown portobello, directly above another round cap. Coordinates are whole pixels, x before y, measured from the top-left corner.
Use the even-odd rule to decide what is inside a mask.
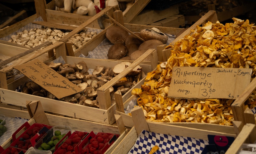
[[[107,39],[113,43],[113,44],[117,44],[117,43],[122,43],[124,44],[125,39],[129,36],[129,33],[127,31],[125,31],[124,29],[122,29],[119,26],[113,26],[110,27],[109,29],[107,29],[106,31],[106,37]]]

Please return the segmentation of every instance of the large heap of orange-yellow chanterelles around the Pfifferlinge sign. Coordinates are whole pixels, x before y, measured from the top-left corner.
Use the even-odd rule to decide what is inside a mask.
[[[174,44],[167,46],[171,55],[167,62],[147,73],[139,95],[138,106],[149,121],[196,122],[232,125],[232,99],[189,100],[168,98],[174,66],[252,68],[256,75],[256,26],[249,20],[232,18],[225,25],[217,21],[196,26],[195,30]],[[171,87],[170,87],[171,88]],[[255,92],[247,99],[246,108],[255,107]]]

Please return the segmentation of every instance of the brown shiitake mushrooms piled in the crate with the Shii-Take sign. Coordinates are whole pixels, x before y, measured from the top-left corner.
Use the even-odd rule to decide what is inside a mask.
[[[56,98],[52,93],[46,91],[33,81],[27,81],[21,85],[21,92],[35,96],[41,96],[70,103],[77,103],[84,106],[99,108],[97,99],[97,89],[121,73],[125,68],[131,65],[130,62],[120,62],[113,68],[105,66],[96,66],[92,74],[89,74],[87,64],[84,61],[73,64],[47,63],[47,65],[56,72],[77,85],[83,91],[61,99]],[[145,73],[138,65],[126,76],[120,79],[109,88],[112,103],[114,103],[114,92],[120,90],[122,94],[129,91],[137,82],[144,78]]]

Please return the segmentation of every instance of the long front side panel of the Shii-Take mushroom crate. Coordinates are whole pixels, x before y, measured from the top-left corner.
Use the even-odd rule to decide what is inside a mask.
[[[26,107],[26,101],[40,100],[44,110],[47,112],[109,124],[107,110],[81,106],[78,104],[43,98],[2,88],[0,89],[0,96],[3,103],[21,107]]]

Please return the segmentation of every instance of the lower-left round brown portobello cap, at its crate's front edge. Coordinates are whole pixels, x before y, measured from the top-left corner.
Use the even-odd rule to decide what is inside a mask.
[[[124,44],[114,44],[109,48],[108,59],[121,59],[127,55],[127,47]]]

